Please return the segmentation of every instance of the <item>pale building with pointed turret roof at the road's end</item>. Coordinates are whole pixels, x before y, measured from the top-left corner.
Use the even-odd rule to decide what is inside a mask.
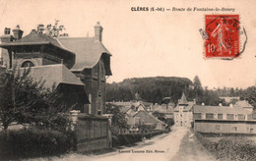
[[[177,106],[174,108],[174,124],[178,127],[191,127],[193,122],[192,108],[195,105],[195,101],[187,101],[185,94],[183,93],[178,100]]]

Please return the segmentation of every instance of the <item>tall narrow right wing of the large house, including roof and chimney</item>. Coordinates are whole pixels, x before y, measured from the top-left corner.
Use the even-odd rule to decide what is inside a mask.
[[[103,27],[97,22],[94,37],[58,37],[67,49],[76,53],[76,64],[71,71],[85,84],[91,104],[86,104],[84,112],[93,115],[105,114],[106,77],[112,75],[110,52],[102,44]]]

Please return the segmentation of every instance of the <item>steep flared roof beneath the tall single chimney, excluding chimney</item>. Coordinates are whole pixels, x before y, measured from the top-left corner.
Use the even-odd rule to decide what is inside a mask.
[[[111,75],[109,59],[111,54],[95,37],[58,37],[57,39],[62,46],[76,53],[73,71],[92,69],[104,54],[108,56],[104,58],[105,62],[108,64],[109,61],[109,65],[105,65],[106,75]]]

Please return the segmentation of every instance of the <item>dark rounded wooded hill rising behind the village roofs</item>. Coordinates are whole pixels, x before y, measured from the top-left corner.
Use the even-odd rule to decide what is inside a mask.
[[[152,103],[161,103],[163,97],[177,102],[182,92],[187,92],[192,85],[191,80],[176,77],[126,79],[106,84],[106,101],[139,99],[135,96],[139,93],[142,100]]]

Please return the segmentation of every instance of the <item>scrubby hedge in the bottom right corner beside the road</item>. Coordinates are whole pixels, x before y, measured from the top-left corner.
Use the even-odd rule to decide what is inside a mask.
[[[212,142],[202,134],[196,134],[202,145],[217,159],[253,161],[256,156],[256,143],[244,136],[225,136]]]

